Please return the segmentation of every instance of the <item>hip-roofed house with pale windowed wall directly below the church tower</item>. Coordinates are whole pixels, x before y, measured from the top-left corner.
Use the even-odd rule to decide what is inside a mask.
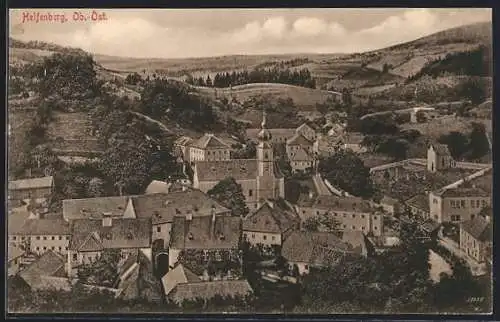
[[[285,206],[268,201],[248,214],[243,219],[243,238],[252,245],[281,246],[288,235],[300,229],[300,218]]]

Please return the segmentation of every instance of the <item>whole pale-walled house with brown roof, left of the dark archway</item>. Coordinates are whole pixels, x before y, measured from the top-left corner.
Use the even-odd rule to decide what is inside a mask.
[[[105,215],[102,219],[73,220],[67,255],[68,274],[74,276],[78,266],[97,261],[107,249],[119,250],[122,258],[137,250],[152,258],[151,219]]]

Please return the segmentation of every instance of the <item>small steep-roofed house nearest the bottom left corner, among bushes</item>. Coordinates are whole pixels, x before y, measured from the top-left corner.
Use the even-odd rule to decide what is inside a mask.
[[[19,272],[19,276],[33,291],[71,289],[71,281],[65,271],[64,256],[53,251],[43,254]]]

